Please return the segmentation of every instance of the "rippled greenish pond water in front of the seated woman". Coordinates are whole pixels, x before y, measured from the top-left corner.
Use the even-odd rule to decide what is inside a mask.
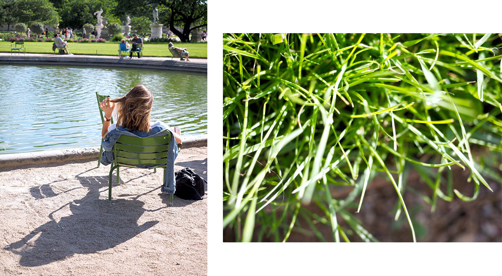
[[[207,133],[206,74],[0,65],[0,154],[99,146],[95,93],[117,98],[137,84],[154,95],[152,121]]]

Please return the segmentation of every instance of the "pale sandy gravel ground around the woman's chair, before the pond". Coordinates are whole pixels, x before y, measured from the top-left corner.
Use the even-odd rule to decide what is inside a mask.
[[[207,148],[180,152],[175,170],[207,179]],[[161,193],[163,170],[97,161],[0,169],[0,275],[206,275],[204,200]]]

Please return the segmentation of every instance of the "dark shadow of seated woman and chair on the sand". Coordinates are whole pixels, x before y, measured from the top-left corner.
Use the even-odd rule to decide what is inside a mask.
[[[155,210],[145,209],[143,207],[145,203],[138,200],[142,195],[160,190],[160,187],[141,195],[135,195],[133,200],[120,198],[130,197],[129,195],[115,195],[112,205],[108,202],[107,196],[99,198],[100,192],[108,189],[108,176],[82,177],[80,175],[77,175],[76,179],[80,181],[81,188],[89,190],[83,198],[54,210],[49,215],[51,219],[49,222],[40,225],[21,240],[10,244],[8,250],[21,255],[21,265],[39,266],[65,259],[73,254],[89,254],[113,248],[159,223],[157,220],[152,220],[141,225],[138,224],[139,218],[145,212],[168,208],[169,197],[162,194],[164,207]],[[113,176],[112,183],[114,186],[116,185],[115,176]],[[62,193],[74,189],[79,188]],[[51,189],[50,184],[33,188],[30,192],[35,198],[58,195]],[[103,194],[107,195],[107,192]],[[175,206],[169,207],[191,203],[183,204],[184,202],[176,202],[175,200]],[[61,217],[58,221],[57,212],[63,208],[69,208],[71,215]],[[165,220],[169,221],[169,217],[167,216]]]

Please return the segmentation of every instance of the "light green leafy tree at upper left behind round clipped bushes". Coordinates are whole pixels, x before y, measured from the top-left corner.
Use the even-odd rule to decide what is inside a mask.
[[[49,0],[17,0],[17,9],[13,11],[19,22],[40,22],[56,26],[59,15]]]

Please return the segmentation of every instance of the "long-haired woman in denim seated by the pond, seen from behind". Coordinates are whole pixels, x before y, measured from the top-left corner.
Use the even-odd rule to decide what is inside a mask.
[[[117,108],[115,109],[115,103]],[[136,137],[152,137],[165,135],[164,130],[169,130],[171,142],[169,152],[174,152],[174,155],[168,156],[168,164],[172,164],[174,170],[174,160],[178,156],[178,149],[181,148],[181,131],[179,127],[174,127],[173,130],[162,121],[150,123],[150,112],[152,111],[153,95],[145,85],[136,85],[125,96],[116,99],[105,98],[100,108],[104,112],[103,128],[101,135],[104,141],[101,143],[103,149],[103,157],[101,164],[108,165],[113,162],[113,145],[118,140],[120,135],[136,136]],[[116,123],[110,125],[111,116],[115,109]],[[149,168],[141,167],[140,168]],[[173,176],[174,177],[174,171]],[[174,180],[169,180],[167,183],[172,183]],[[171,185],[169,185],[171,186]],[[164,189],[166,188],[167,191]],[[170,189],[172,188],[172,190]],[[173,187],[164,187],[163,192],[174,192]]]

